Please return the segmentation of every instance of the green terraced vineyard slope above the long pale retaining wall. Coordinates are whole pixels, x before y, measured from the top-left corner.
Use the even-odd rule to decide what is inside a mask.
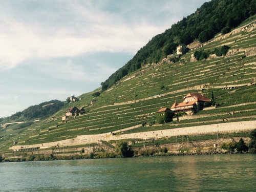
[[[190,62],[195,51],[214,51],[224,45],[230,47],[226,56]],[[256,120],[256,56],[248,54],[254,48],[256,50],[255,29],[210,42],[182,55],[178,62],[166,59],[163,65],[125,80],[133,76],[129,74],[97,98],[91,96],[93,92],[83,94],[80,101],[29,128],[12,130],[11,126],[3,127],[0,146],[2,150],[7,150],[13,141],[18,141],[18,145],[31,145],[75,138],[77,135],[109,132],[120,135]],[[156,112],[160,108],[170,108],[175,101],[181,102],[188,93],[201,93],[208,98],[213,93],[220,105],[189,118],[180,117],[179,121],[155,126]],[[92,100],[97,101],[90,105]],[[87,113],[62,122],[60,117],[71,106],[84,106]],[[145,123],[150,126],[142,126]]]

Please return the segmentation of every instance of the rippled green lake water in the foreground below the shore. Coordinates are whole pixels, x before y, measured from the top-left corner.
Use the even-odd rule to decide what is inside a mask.
[[[256,191],[256,155],[0,163],[0,191]]]

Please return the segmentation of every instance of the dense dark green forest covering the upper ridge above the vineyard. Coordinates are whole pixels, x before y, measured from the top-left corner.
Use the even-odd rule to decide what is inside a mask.
[[[102,90],[113,86],[125,75],[146,63],[157,63],[172,54],[179,44],[190,44],[194,39],[208,41],[219,32],[227,33],[256,13],[256,0],[212,0],[170,29],[153,37],[122,68],[101,83]]]

